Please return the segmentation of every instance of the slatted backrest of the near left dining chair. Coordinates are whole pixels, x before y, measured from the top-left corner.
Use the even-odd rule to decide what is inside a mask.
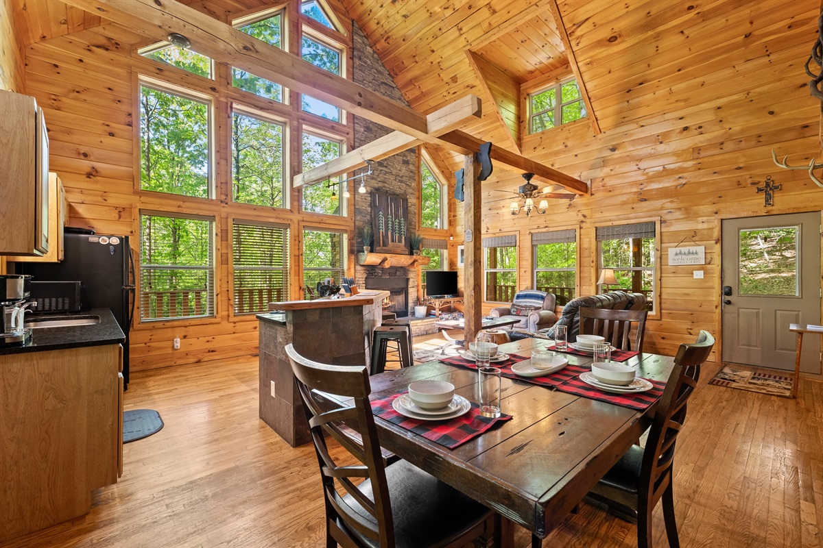
[[[329,366],[311,361],[300,356],[291,344],[286,345],[286,354],[303,399],[320,475],[323,477],[327,521],[340,518],[351,531],[373,538],[379,546],[393,548],[394,522],[388,498],[385,463],[380,453],[377,428],[374,426],[374,415],[369,403],[369,371],[364,366]],[[328,403],[324,403],[323,398],[314,390],[352,398],[351,405],[328,409]],[[342,431],[343,421],[346,421],[348,429],[360,435],[359,440]],[[333,459],[328,452],[325,435],[341,444],[360,464],[352,466],[348,458],[343,464]],[[353,478],[369,478],[373,497],[360,490],[352,481]],[[337,492],[338,486],[342,486],[360,504],[360,513],[346,504]],[[361,515],[364,509],[374,521]]]

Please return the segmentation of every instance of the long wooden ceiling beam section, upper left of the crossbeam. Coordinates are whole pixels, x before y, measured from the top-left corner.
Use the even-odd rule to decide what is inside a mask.
[[[125,25],[149,39],[166,40],[170,33],[179,33],[191,40],[193,51],[209,58],[276,81],[394,130],[418,138],[428,134],[426,118],[416,110],[315,67],[175,0],[65,2]]]

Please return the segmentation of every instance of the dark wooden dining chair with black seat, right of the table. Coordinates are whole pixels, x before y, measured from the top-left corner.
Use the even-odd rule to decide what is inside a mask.
[[[588,493],[588,498],[607,504],[618,517],[636,521],[638,548],[652,546],[652,511],[660,500],[669,546],[680,546],[672,490],[675,442],[686,421],[686,403],[697,386],[700,366],[713,346],[714,337],[707,331],[700,331],[695,343],[680,345],[645,448],[632,445]]]

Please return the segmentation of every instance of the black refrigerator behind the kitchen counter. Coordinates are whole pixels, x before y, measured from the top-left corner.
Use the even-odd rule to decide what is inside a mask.
[[[123,385],[128,385],[128,331],[134,315],[134,259],[128,236],[66,233],[63,261],[22,265],[22,274],[31,274],[34,282],[80,282],[81,311],[111,310],[126,334]]]

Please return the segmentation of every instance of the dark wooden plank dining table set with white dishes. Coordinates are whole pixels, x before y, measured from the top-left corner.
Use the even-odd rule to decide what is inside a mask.
[[[502,352],[530,356],[551,341],[507,343]],[[591,357],[564,354],[570,364]],[[639,375],[667,380],[672,357],[640,353],[625,363]],[[432,361],[370,378],[372,397],[393,394],[415,380],[447,380],[477,402],[477,371]],[[486,504],[504,518],[502,546],[514,545],[518,524],[544,538],[650,426],[656,403],[644,411],[567,394],[526,380],[503,378],[502,411],[513,416],[455,449],[376,418],[380,444],[440,481]]]

